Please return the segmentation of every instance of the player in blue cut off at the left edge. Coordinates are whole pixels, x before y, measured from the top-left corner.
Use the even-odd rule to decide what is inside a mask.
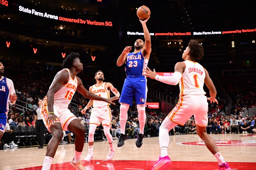
[[[13,105],[17,100],[12,80],[3,77],[3,74],[4,65],[0,62],[0,140],[8,118],[9,103]]]

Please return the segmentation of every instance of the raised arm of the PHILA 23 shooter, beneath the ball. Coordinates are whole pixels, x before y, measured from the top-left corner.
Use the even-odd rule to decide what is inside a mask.
[[[149,19],[150,17],[148,17]],[[146,25],[146,22],[148,21],[148,19],[142,21],[140,20],[142,27],[143,27],[143,33],[144,33],[144,38],[145,38],[145,42],[144,42],[144,48],[143,48],[143,55],[145,58],[149,59],[149,55],[151,53],[151,37],[150,37],[150,33],[148,31],[148,27]]]

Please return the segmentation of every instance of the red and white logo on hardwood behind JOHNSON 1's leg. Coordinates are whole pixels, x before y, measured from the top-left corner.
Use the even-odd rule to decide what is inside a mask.
[[[217,146],[256,146],[255,140],[216,140]],[[204,142],[181,142],[180,145],[205,146]]]

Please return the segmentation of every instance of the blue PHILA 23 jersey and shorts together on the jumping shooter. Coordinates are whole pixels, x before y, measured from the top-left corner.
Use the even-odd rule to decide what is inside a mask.
[[[127,77],[119,99],[120,103],[132,106],[133,99],[136,104],[145,104],[147,99],[147,79],[143,76],[143,68],[148,65],[142,51],[138,53],[128,53],[125,61],[125,72]]]

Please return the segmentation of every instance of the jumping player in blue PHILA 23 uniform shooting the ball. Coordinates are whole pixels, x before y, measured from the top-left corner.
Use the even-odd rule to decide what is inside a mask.
[[[146,20],[140,20],[143,27],[144,38],[143,40],[138,39],[134,43],[134,52],[130,53],[131,46],[125,47],[122,54],[118,57],[116,65],[122,66],[125,63],[125,72],[127,77],[124,80],[124,86],[122,94],[120,96],[120,128],[121,136],[119,138],[117,147],[124,145],[124,141],[128,138],[125,134],[125,123],[127,121],[127,111],[129,105],[132,106],[133,99],[137,105],[138,118],[140,123],[140,132],[138,133],[138,139],[136,146],[141,147],[144,137],[144,125],[146,121],[145,104],[147,99],[147,79],[143,76],[143,69],[148,65],[149,55],[151,53],[151,38],[146,26]]]

